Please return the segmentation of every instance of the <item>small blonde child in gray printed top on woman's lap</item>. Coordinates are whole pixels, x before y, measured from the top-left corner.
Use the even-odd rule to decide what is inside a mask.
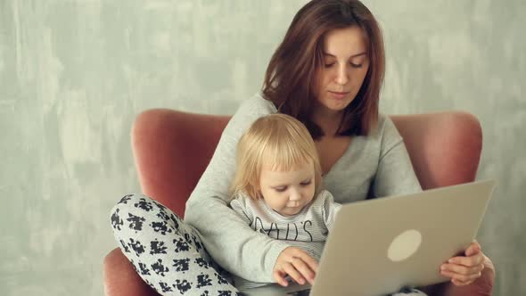
[[[319,260],[341,209],[333,195],[321,188],[316,145],[299,120],[284,114],[267,115],[241,137],[230,206],[254,231]],[[265,283],[234,277],[234,284],[243,291]],[[408,294],[425,295],[414,289],[394,295]]]

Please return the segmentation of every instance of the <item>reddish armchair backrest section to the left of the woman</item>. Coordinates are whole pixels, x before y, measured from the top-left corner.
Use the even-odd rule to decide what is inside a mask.
[[[152,109],[137,116],[132,148],[143,193],[184,217],[230,117]]]

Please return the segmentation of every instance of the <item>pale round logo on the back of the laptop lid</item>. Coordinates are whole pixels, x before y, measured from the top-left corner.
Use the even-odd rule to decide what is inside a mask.
[[[387,249],[387,258],[399,262],[411,257],[422,243],[422,234],[418,230],[409,229],[399,234]]]

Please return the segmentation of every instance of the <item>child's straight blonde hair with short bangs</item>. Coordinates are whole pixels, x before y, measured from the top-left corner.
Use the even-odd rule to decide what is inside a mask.
[[[315,192],[319,193],[322,170],[316,145],[298,119],[271,114],[252,123],[237,144],[235,176],[230,187],[233,196],[245,193],[253,199],[261,198],[259,177],[264,160],[272,169],[280,170],[291,170],[312,160]]]

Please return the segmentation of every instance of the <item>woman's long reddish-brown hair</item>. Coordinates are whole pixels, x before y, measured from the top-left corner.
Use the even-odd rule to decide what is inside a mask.
[[[316,71],[324,65],[325,34],[333,29],[358,26],[367,45],[369,69],[355,99],[341,119],[338,135],[368,135],[378,119],[378,101],[385,72],[382,30],[373,13],[358,0],[312,0],[294,16],[268,63],[263,96],[280,112],[299,119],[314,139],[324,136],[312,121]]]

